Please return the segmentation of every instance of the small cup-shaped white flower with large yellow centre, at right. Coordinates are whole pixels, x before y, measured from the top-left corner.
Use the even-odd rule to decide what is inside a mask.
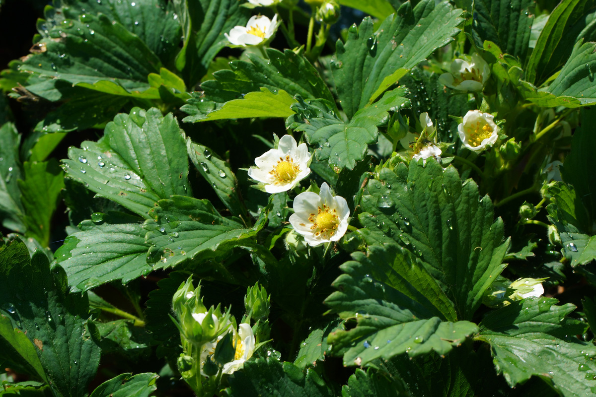
[[[479,110],[468,111],[463,123],[457,126],[464,146],[471,151],[479,152],[486,149],[486,146],[493,145],[499,133],[499,127],[493,121],[494,118],[492,114]]]

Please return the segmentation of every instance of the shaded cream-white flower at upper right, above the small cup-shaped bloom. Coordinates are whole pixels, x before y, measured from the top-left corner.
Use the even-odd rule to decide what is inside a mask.
[[[488,63],[474,54],[470,62],[460,59],[451,62],[451,73],[441,74],[439,82],[460,91],[482,91],[490,75]]]

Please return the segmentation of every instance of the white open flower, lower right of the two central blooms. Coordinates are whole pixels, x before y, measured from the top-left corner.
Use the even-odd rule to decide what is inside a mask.
[[[350,208],[342,196],[333,196],[323,183],[321,192],[300,193],[294,199],[290,224],[310,246],[337,241],[347,230]]]

